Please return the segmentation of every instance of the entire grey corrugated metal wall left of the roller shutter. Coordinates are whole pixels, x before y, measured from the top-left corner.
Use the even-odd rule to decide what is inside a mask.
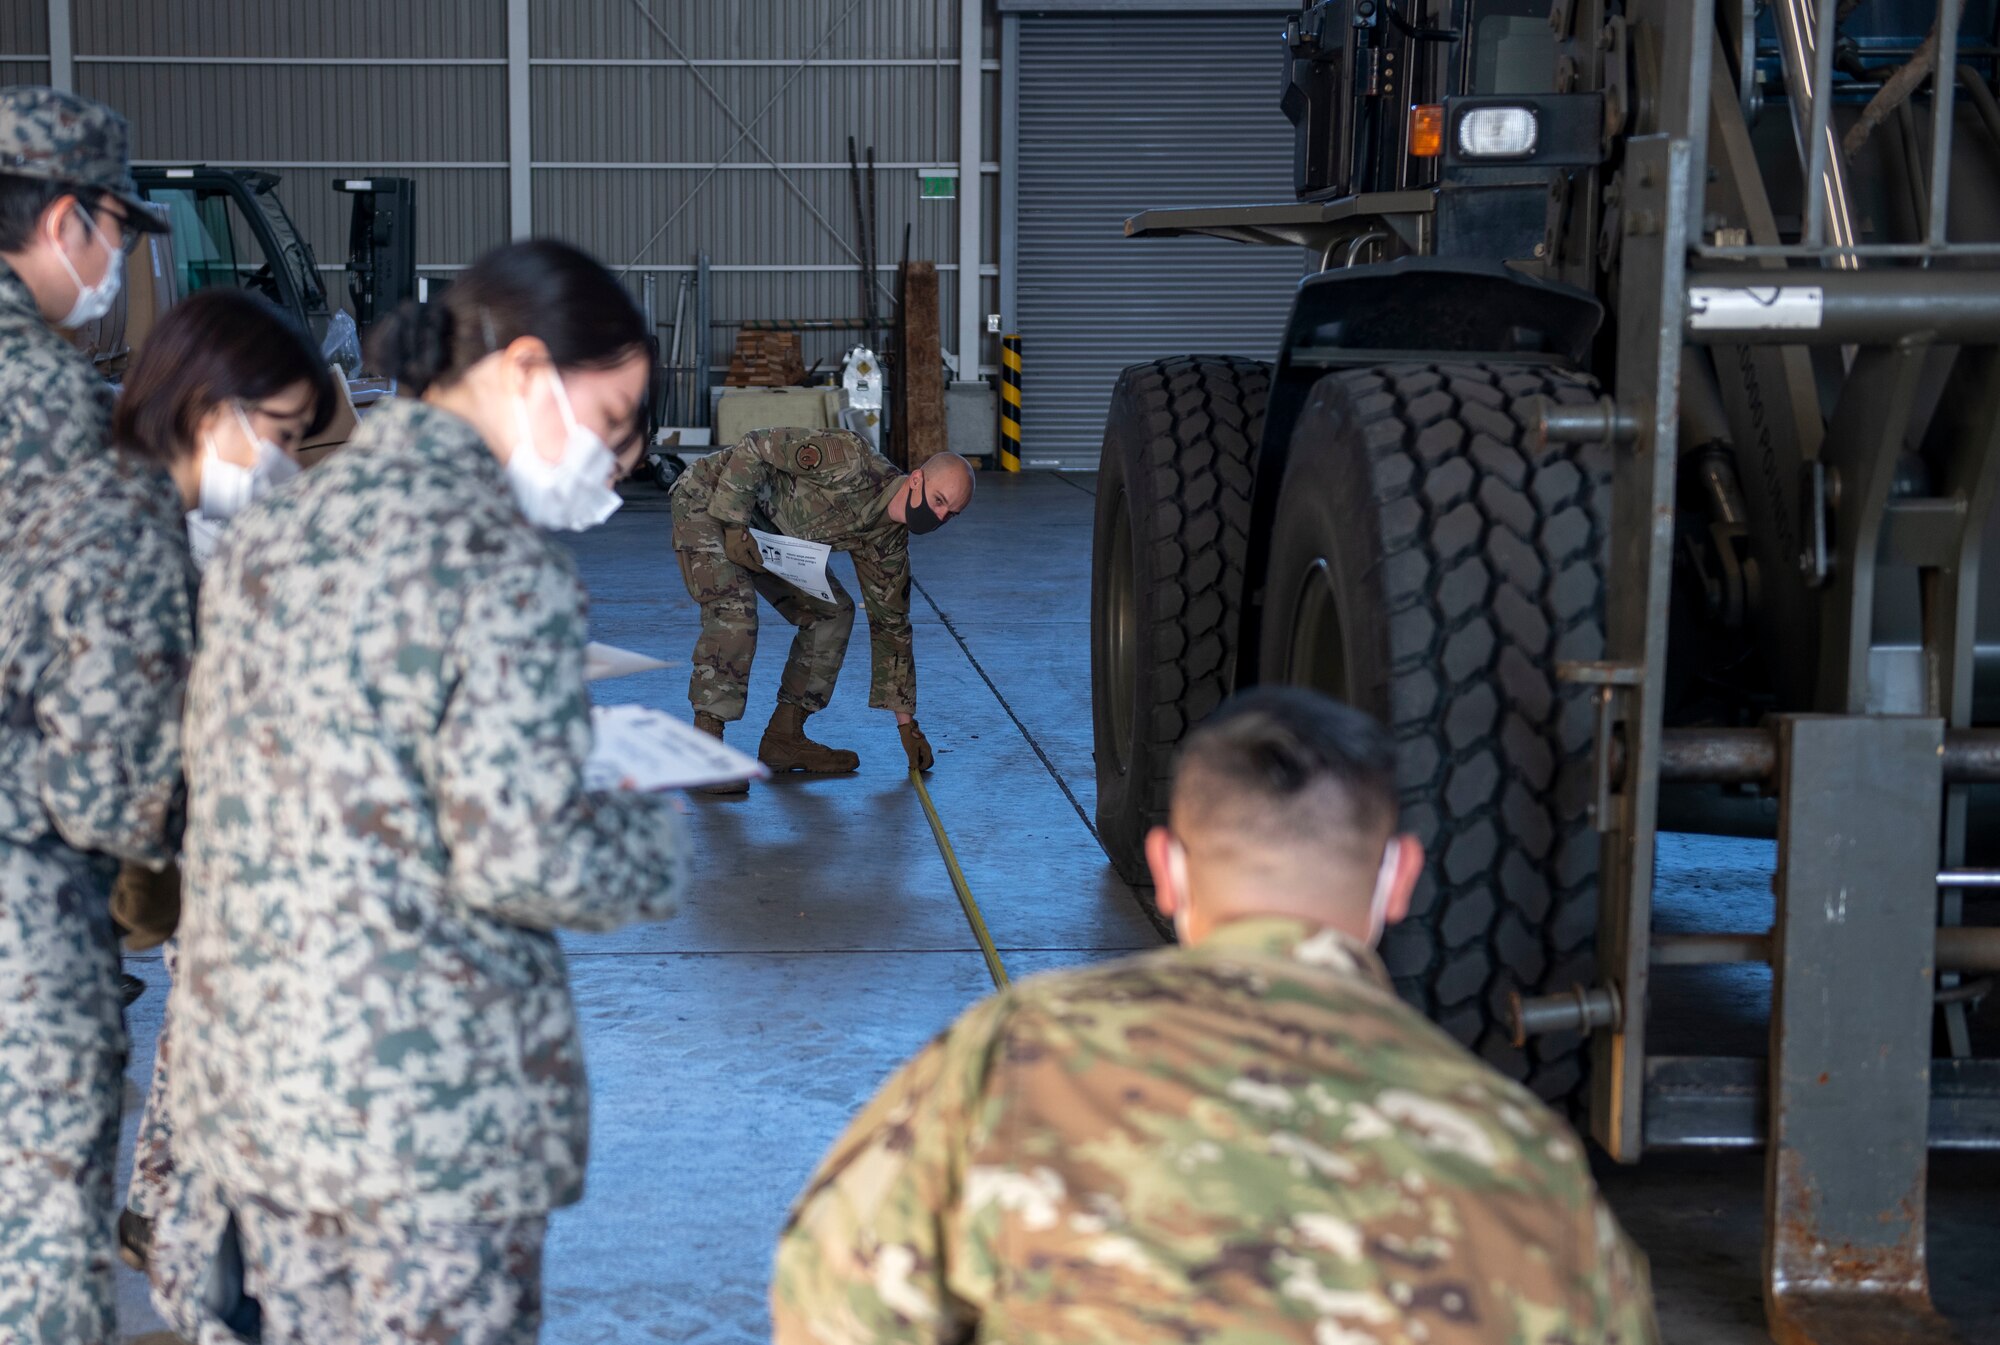
[[[130,118],[134,158],[282,172],[322,266],[346,256],[334,178],[416,178],[424,272],[512,234],[508,0],[58,2],[76,88]],[[860,316],[854,134],[880,164],[884,292],[906,228],[912,256],[956,274],[958,204],[920,200],[918,168],[958,164],[958,0],[530,0],[534,232],[630,264],[634,288],[660,276],[662,306],[706,250],[718,320]],[[992,34],[972,34],[982,54]],[[50,78],[46,52],[48,0],[0,2],[0,82]],[[998,310],[992,62],[984,82],[978,260]],[[956,286],[942,288],[954,346]],[[852,340],[810,336],[808,360]]]

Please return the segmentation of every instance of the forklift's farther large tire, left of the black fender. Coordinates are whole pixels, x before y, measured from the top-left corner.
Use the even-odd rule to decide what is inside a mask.
[[[1098,841],[1132,885],[1166,817],[1174,747],[1236,677],[1250,484],[1270,366],[1228,356],[1118,378],[1090,566]]]

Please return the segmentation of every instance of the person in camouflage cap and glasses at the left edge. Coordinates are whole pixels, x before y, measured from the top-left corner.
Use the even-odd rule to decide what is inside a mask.
[[[0,90],[0,1339],[48,1345],[116,1325],[110,887],[178,845],[194,644],[174,482],[108,448],[110,394],[52,328],[146,222],[124,146],[102,104]]]

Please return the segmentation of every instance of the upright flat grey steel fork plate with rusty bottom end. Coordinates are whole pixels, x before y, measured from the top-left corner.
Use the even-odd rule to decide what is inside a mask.
[[[1778,721],[1764,1305],[1780,1345],[1958,1337],[1930,1305],[1944,721]]]

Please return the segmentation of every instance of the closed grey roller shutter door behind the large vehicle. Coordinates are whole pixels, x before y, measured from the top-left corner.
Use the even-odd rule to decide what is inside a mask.
[[[1128,242],[1154,206],[1292,198],[1282,16],[1022,16],[1016,326],[1022,450],[1094,468],[1118,370],[1170,354],[1272,358],[1296,248]]]

